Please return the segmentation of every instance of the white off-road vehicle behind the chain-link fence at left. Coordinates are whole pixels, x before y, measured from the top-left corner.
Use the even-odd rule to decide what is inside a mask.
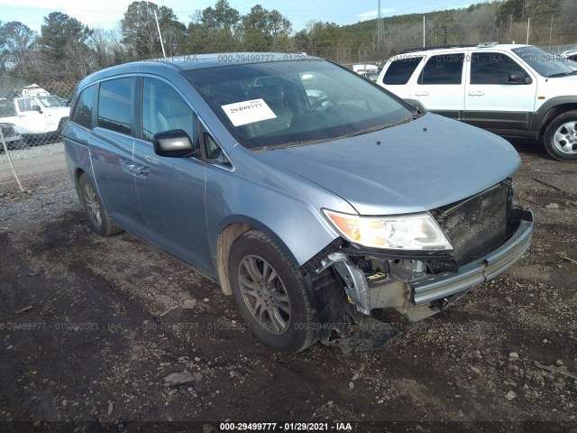
[[[69,112],[69,106],[53,96],[0,99],[0,123],[12,124],[14,131],[24,138],[60,134]]]

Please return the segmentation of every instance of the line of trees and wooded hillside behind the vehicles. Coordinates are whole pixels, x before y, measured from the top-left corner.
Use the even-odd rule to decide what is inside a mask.
[[[165,5],[134,1],[118,28],[89,28],[60,12],[44,17],[40,34],[19,22],[0,22],[0,87],[14,83],[76,81],[131,60],[229,51],[307,52],[344,64],[382,61],[403,49],[449,43],[501,41],[547,46],[577,41],[574,0],[505,0],[428,14],[337,25],[311,20],[294,32],[289,19],[261,5],[240,14],[227,0],[190,15],[188,25]],[[424,22],[425,21],[425,25]]]

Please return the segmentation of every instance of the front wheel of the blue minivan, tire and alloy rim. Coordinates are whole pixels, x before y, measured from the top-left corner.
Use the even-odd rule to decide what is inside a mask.
[[[306,281],[268,235],[250,230],[234,241],[228,278],[237,308],[265,345],[294,354],[316,342]]]

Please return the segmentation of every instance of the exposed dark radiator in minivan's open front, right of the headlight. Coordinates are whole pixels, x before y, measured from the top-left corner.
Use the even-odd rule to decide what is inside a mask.
[[[494,251],[508,237],[511,183],[490,189],[433,212],[454,247],[459,265],[471,263]]]

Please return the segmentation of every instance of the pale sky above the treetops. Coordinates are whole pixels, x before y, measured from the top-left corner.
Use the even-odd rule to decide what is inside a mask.
[[[480,0],[380,0],[382,16],[420,14],[444,9],[468,7]],[[50,3],[50,6],[47,5]],[[0,21],[19,21],[32,30],[40,32],[42,19],[50,12],[69,14],[91,28],[114,29],[123,18],[132,0],[0,0]],[[172,8],[179,21],[188,24],[189,16],[197,9],[214,6],[216,0],[173,0],[153,1],[157,5]],[[293,30],[298,32],[307,27],[311,20],[337,23],[358,23],[377,17],[378,0],[229,0],[229,4],[241,14],[246,14],[253,5],[272,10],[289,18]]]

